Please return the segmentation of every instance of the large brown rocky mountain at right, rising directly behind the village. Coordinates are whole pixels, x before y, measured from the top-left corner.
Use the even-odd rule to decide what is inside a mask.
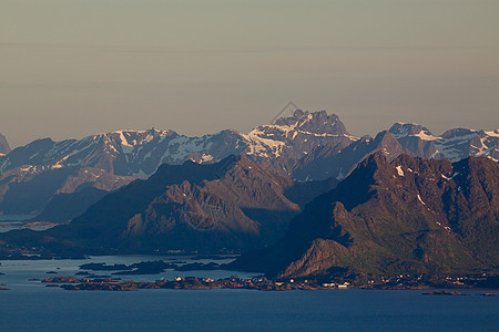
[[[469,273],[499,266],[499,165],[376,153],[237,268],[278,277]]]

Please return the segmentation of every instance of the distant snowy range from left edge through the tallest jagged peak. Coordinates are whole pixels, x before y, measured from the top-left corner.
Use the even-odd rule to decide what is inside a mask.
[[[71,194],[81,187],[112,191],[151,176],[162,164],[210,164],[232,154],[247,155],[266,169],[287,176],[296,159],[316,144],[346,146],[355,139],[336,115],[324,111],[297,111],[248,135],[222,131],[187,137],[152,128],[80,141],[38,139],[0,157],[0,212],[39,214],[57,194]]]

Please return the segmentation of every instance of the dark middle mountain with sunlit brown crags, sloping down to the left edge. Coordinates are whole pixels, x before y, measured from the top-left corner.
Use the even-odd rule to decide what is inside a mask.
[[[147,180],[106,195],[67,226],[6,234],[2,240],[88,253],[261,248],[283,237],[301,208],[335,185],[296,184],[244,156],[207,165],[165,164]]]

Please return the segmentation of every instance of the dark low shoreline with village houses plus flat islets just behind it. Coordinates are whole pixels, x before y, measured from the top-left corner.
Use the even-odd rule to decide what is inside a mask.
[[[110,290],[131,291],[139,289],[249,289],[259,291],[285,291],[285,290],[329,290],[329,289],[366,289],[366,290],[499,290],[499,276],[488,272],[476,272],[472,274],[356,274],[335,273],[324,276],[308,276],[301,278],[272,278],[261,272],[242,277],[237,276],[237,270],[230,268],[228,263],[218,260],[234,259],[232,255],[195,255],[190,257],[170,255],[165,260],[147,260],[134,263],[105,263],[89,262],[80,264],[79,272],[71,277],[52,277],[44,279],[29,279],[40,281],[50,287],[58,287],[64,290]],[[24,256],[24,258],[27,258]],[[90,257],[86,257],[90,258]],[[35,258],[39,260],[41,258]],[[53,258],[52,258],[53,259]],[[23,259],[22,259],[23,260]],[[59,259],[54,259],[59,260]],[[187,261],[184,261],[187,260]],[[207,260],[203,261],[203,260]],[[1,266],[1,263],[0,263]],[[166,270],[179,271],[185,276],[186,271],[193,271],[197,277],[176,277],[174,280],[164,278],[155,281],[122,280],[122,276],[153,276]],[[222,279],[204,278],[201,271],[226,270],[234,274]],[[247,272],[247,271],[240,271]],[[48,271],[47,273],[57,273]],[[0,274],[2,274],[0,272]],[[104,276],[103,276],[104,274]],[[201,276],[200,276],[201,274]],[[228,274],[226,274],[228,276]],[[253,277],[255,276],[255,277]],[[170,279],[173,276],[169,277]],[[213,277],[212,277],[213,278]],[[220,278],[220,277],[218,277]],[[142,277],[141,277],[142,279]]]

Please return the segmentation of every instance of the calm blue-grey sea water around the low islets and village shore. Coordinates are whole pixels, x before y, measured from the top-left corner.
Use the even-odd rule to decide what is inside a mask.
[[[426,297],[424,291],[139,290],[64,291],[33,277],[70,276],[82,262],[157,257],[0,261],[0,331],[499,331],[499,298]],[[163,259],[163,258],[160,258]],[[166,259],[166,258],[165,258]],[[181,258],[182,259],[182,258]],[[60,268],[60,269],[57,269]],[[166,271],[135,280],[231,271]],[[248,274],[238,274],[248,277]],[[496,291],[497,292],[497,291]]]

